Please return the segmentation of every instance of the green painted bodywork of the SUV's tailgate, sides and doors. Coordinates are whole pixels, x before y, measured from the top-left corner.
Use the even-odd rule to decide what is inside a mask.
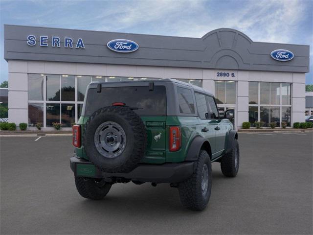
[[[82,125],[83,136],[84,124],[89,117],[80,117],[79,125]],[[185,161],[188,149],[195,137],[201,136],[206,139],[212,150],[212,160],[224,154],[229,131],[232,124],[228,119],[200,119],[199,117],[187,116],[142,116],[147,131],[147,148],[141,163],[163,164],[179,163]],[[176,152],[169,151],[169,127],[180,126],[181,148]],[[219,126],[220,130],[215,130]],[[207,132],[201,130],[206,127]],[[76,148],[79,158],[89,160],[84,151],[84,143],[81,148]]]

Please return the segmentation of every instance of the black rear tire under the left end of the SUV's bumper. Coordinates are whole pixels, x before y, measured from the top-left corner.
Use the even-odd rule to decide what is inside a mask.
[[[96,180],[98,179],[75,177],[75,185],[79,194],[92,200],[103,199],[110,191],[112,185],[105,184],[102,186],[97,184]]]

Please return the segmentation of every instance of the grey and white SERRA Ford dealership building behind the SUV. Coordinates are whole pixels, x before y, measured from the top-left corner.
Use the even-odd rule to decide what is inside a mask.
[[[91,81],[173,78],[235,109],[235,128],[250,121],[305,120],[309,46],[253,42],[235,29],[201,38],[4,25],[9,121],[77,122]]]

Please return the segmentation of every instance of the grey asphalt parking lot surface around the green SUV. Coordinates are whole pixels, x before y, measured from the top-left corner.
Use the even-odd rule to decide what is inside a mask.
[[[206,210],[181,207],[176,188],[115,184],[80,197],[71,137],[0,138],[1,234],[312,234],[313,133],[239,134],[240,169],[213,164]]]

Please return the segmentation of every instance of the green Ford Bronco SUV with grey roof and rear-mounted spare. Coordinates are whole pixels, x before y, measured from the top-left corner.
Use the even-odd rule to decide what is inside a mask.
[[[169,183],[180,201],[203,210],[211,163],[225,176],[239,168],[234,111],[219,113],[214,96],[173,79],[92,82],[73,126],[70,167],[81,196],[102,199],[114,183]]]

